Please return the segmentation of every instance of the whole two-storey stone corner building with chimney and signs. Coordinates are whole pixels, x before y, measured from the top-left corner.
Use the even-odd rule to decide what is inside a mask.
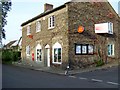
[[[22,23],[22,60],[38,67],[81,68],[120,59],[119,17],[109,2],[67,2]]]

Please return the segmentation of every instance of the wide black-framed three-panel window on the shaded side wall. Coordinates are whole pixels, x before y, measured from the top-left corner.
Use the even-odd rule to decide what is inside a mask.
[[[75,44],[75,54],[76,55],[94,54],[94,47],[92,44]]]

